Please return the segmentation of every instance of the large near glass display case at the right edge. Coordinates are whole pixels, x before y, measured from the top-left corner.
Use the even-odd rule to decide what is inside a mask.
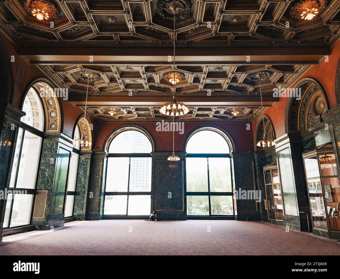
[[[340,237],[340,184],[332,144],[303,154],[313,234]]]

